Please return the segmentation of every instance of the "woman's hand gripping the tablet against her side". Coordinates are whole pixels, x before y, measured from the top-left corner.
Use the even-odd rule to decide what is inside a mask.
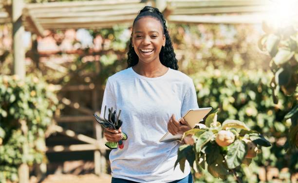
[[[175,135],[177,133],[183,134],[190,129],[191,128],[188,126],[184,118],[182,118],[179,122],[175,119],[175,116],[172,115],[168,120],[168,132],[171,133],[172,135]]]

